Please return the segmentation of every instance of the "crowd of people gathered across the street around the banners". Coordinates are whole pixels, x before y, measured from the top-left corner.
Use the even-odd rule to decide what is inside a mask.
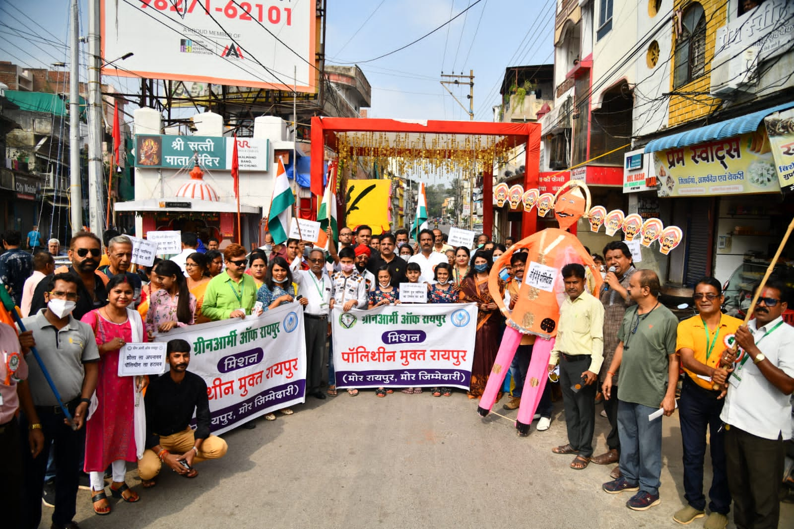
[[[249,253],[229,241],[221,245],[209,238],[205,243],[197,234],[183,232],[179,254],[158,258],[152,266],[134,266],[129,237],[109,230],[100,240],[80,231],[69,244],[70,264],[56,268],[58,241],[49,241],[44,249],[40,237],[31,234],[26,251],[19,232],[6,232],[6,253],[0,256],[0,279],[20,307],[25,327],[14,332],[0,324],[5,357],[0,439],[11,461],[6,484],[24,484],[2,485],[4,501],[24,507],[6,509],[10,527],[38,527],[42,498],[54,507],[52,527],[77,527],[72,518],[81,485],[91,490],[97,515],[111,512],[108,488],[114,497],[137,502],[140,497],[125,482],[127,462],[137,462],[142,486],[151,488],[163,465],[191,478],[198,475],[195,463],[225,454],[225,442],[210,433],[206,383],[187,369],[190,344],[168,341],[168,373],[162,376],[117,374],[125,344],[167,336],[175,327],[245,318],[297,302],[304,315],[306,396],[325,400],[337,396],[329,339],[333,307],[369,310],[401,303],[401,284],[424,284],[427,303],[476,303],[467,394],[479,398],[504,329],[488,277],[495,260],[514,243],[510,237],[500,244],[480,234],[472,248],[453,248],[441,230],[373,236],[369,226],[343,226],[337,241],[328,230],[328,249],[295,239],[275,244],[268,234],[265,245]],[[500,271],[499,296],[510,310],[527,255],[516,250]],[[588,292],[588,272],[581,264],[561,271],[567,298],[561,304],[549,380],[559,381],[568,439],[553,452],[575,456],[570,467],[577,470],[591,462],[618,463],[603,490],[635,492],[627,507],[651,508],[660,503],[660,415],[671,415],[677,405],[688,504],[675,513],[676,522],[690,523],[708,508],[705,527],[726,527],[733,503],[738,527],[777,527],[783,443],[791,438],[789,396],[794,392],[794,329],[781,318],[788,288],[770,281],[755,319],[741,326],[719,310],[719,282],[705,277],[694,289],[698,315],[678,322],[659,302],[659,278],[634,267],[624,242],[612,241],[603,257],[593,257],[604,279],[595,295]],[[745,352],[736,369],[724,343],[728,335]],[[510,398],[503,404],[507,410],[518,408],[522,393],[529,391],[525,383],[534,339],[523,336],[512,361]],[[49,375],[28,354],[34,348]],[[328,378],[323,380],[326,366]],[[549,429],[555,386],[545,384],[535,415],[537,431]],[[423,392],[396,389],[409,395]],[[376,388],[374,395],[394,391]],[[346,392],[359,394],[356,388]],[[451,396],[453,389],[430,388],[430,393]],[[497,400],[502,397],[500,392]],[[595,407],[602,400],[610,425],[608,450],[594,456]],[[194,415],[195,430],[189,426]],[[275,420],[276,414],[265,419]],[[714,473],[708,504],[703,495],[707,444]]]

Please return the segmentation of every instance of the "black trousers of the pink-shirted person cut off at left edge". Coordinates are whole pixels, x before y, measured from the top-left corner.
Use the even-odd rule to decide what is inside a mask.
[[[27,448],[25,443],[25,448]],[[29,449],[28,449],[29,450]],[[22,523],[22,458],[19,451],[19,424],[17,419],[0,425],[0,512],[3,525],[21,527]],[[6,523],[8,525],[6,525]]]

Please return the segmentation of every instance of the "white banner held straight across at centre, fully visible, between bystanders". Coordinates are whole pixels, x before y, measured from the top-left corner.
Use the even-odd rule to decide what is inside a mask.
[[[337,388],[469,387],[476,303],[334,307],[332,325]]]

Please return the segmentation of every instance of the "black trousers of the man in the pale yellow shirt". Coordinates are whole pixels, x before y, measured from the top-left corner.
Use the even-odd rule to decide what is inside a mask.
[[[595,384],[582,383],[582,373],[590,367],[590,356],[568,357],[560,355],[560,388],[565,404],[565,426],[568,442],[579,455],[589,458],[593,454],[593,431],[595,431]],[[573,384],[580,384],[578,392]]]

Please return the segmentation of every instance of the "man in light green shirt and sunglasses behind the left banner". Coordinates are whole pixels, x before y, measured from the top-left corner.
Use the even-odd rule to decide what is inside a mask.
[[[223,251],[226,268],[206,285],[202,314],[219,319],[245,318],[256,303],[256,284],[245,272],[245,248],[231,244]]]

